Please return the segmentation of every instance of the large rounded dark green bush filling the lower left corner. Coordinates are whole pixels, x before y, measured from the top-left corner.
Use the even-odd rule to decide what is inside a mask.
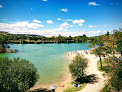
[[[0,58],[1,92],[25,92],[34,86],[37,78],[37,70],[29,61],[19,58]]]

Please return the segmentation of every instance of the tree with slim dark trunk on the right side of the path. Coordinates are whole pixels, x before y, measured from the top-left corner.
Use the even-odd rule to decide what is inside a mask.
[[[89,47],[95,47],[95,46],[98,46],[98,47],[94,48],[94,50],[92,50],[92,53],[99,56],[99,58],[100,58],[100,66],[101,66],[101,69],[102,69],[101,56],[103,55],[103,52],[104,52],[103,36],[99,36],[95,40],[91,41],[91,43],[89,44],[88,48]]]

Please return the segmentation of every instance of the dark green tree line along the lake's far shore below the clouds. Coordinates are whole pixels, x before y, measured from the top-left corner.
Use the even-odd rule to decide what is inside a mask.
[[[41,36],[27,36],[27,35],[17,35],[17,34],[0,34],[0,36],[4,35],[4,38],[7,38],[7,42],[15,42],[20,41],[21,43],[27,43],[29,41],[48,41],[48,42],[58,42],[58,43],[86,43],[88,40],[93,40],[95,37],[87,37],[85,34],[82,36],[69,36],[64,37],[61,35],[52,36],[52,37],[41,37]],[[4,39],[3,38],[3,39]]]

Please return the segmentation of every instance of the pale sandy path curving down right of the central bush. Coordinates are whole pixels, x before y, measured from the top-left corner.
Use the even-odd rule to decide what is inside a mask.
[[[84,51],[78,51],[78,53],[82,53],[88,59],[86,74],[93,75],[96,78],[95,82],[88,83],[83,90],[78,92],[99,92],[105,86],[106,82],[106,78],[102,76],[102,72],[97,70],[97,61],[99,58],[92,54],[86,54]]]

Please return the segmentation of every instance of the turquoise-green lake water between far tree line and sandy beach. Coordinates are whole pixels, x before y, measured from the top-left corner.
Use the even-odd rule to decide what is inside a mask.
[[[32,62],[40,75],[39,83],[53,83],[60,80],[68,63],[66,53],[88,50],[88,43],[71,44],[9,44],[18,53],[4,53],[1,57],[20,57]]]

